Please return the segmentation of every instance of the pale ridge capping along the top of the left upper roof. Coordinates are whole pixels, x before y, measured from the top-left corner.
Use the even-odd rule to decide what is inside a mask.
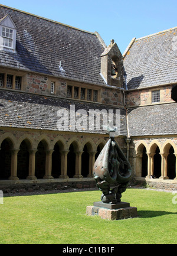
[[[45,18],[45,17],[41,17],[41,16],[36,15],[36,14],[31,14],[30,12],[25,12],[25,11],[22,11],[22,10],[13,8],[13,7],[8,7],[8,6],[2,5],[2,4],[0,4],[0,7],[5,7],[5,8],[8,8],[8,9],[12,9],[12,10],[14,10],[14,11],[22,12],[22,13],[24,13],[24,14],[28,14],[28,15],[31,15],[31,16],[34,16],[34,17],[37,17],[37,18],[41,18],[42,20],[54,22],[54,23],[56,23],[56,24],[60,24],[60,25],[63,25],[63,26],[65,26],[65,27],[74,28],[75,30],[80,30],[80,31],[85,32],[85,33],[89,33],[89,34],[96,35],[96,33],[94,33],[94,32],[90,32],[90,31],[87,31],[87,30],[82,30],[81,28],[72,27],[72,26],[70,26],[70,25],[61,23],[61,22],[59,22],[59,21],[54,21],[54,20],[51,20],[51,19],[48,19],[48,18]]]

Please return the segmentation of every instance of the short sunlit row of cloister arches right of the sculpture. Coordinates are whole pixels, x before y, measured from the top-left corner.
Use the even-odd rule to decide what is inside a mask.
[[[177,180],[177,147],[172,140],[139,141],[135,151],[136,177]]]

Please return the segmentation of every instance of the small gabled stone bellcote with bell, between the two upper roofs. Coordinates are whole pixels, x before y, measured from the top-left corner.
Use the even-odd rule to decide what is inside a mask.
[[[123,87],[123,57],[113,39],[101,54],[101,75],[107,85]]]

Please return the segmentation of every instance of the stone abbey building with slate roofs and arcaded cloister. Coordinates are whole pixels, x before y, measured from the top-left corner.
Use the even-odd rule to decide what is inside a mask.
[[[133,177],[176,186],[176,27],[122,54],[97,32],[0,5],[0,56],[0,186],[93,186],[110,119]]]

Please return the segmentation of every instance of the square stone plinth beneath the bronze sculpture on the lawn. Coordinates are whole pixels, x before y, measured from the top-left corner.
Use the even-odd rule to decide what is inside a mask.
[[[101,219],[119,220],[137,217],[137,208],[130,207],[129,203],[120,202],[116,204],[94,202],[93,206],[87,206],[86,214],[98,215]]]

